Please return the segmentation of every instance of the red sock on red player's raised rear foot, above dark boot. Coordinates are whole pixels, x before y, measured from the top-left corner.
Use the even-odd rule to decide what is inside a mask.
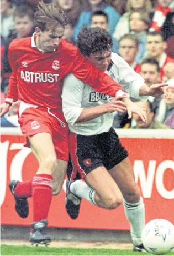
[[[18,182],[14,190],[14,195],[16,197],[31,197],[32,193],[32,180],[27,180],[26,182]]]

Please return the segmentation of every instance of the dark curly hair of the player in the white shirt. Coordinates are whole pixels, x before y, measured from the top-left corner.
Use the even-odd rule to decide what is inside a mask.
[[[113,45],[112,37],[103,28],[84,27],[77,37],[77,46],[85,56],[110,51]]]

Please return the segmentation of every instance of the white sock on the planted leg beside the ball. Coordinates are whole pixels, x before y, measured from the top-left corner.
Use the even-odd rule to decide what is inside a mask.
[[[127,219],[130,223],[130,235],[133,243],[135,245],[140,245],[142,243],[141,233],[145,226],[145,207],[143,203],[143,198],[135,204],[130,204],[124,200],[124,210]]]

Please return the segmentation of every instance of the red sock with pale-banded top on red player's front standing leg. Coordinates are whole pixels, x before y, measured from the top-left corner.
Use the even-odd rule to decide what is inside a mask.
[[[52,175],[36,174],[32,182],[33,220],[47,219],[52,199]]]

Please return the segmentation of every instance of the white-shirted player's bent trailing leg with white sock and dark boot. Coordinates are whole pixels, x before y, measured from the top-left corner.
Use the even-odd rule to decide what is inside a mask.
[[[87,184],[86,184],[87,183]],[[123,196],[107,169],[98,167],[82,180],[67,181],[65,207],[72,219],[78,217],[81,198],[106,209],[115,209],[123,202]]]

